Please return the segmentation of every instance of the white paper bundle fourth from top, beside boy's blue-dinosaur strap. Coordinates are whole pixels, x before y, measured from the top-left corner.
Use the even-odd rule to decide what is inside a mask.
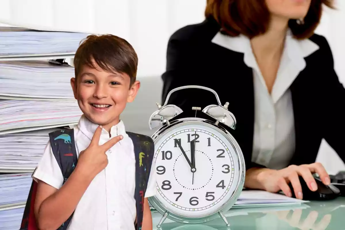
[[[49,133],[55,130],[0,135],[0,172],[32,172],[41,160]]]

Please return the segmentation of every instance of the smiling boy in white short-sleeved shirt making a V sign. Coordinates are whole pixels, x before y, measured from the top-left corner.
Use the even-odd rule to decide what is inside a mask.
[[[79,46],[74,59],[75,78],[71,79],[83,112],[73,130],[78,164],[63,183],[51,145],[47,144],[33,173],[38,181],[34,214],[39,229],[58,229],[71,214],[69,230],[135,229],[136,159],[120,114],[139,90],[137,64],[132,46],[113,35],[88,36]],[[147,197],[155,195],[155,184],[152,162],[142,230],[152,229]]]

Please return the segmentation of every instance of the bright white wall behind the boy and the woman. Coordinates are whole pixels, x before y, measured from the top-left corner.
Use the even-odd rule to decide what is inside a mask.
[[[115,34],[137,51],[138,77],[160,81],[169,36],[182,26],[202,21],[205,5],[206,0],[0,0],[0,25]],[[336,0],[336,7],[326,9],[316,32],[330,43],[335,70],[345,83],[345,0]],[[160,95],[160,89],[156,93]],[[329,173],[345,170],[326,142],[317,161]]]

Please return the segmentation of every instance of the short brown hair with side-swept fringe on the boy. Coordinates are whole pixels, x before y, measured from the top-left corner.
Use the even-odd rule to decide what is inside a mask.
[[[77,78],[84,65],[95,68],[92,61],[108,72],[126,73],[130,85],[136,81],[138,56],[131,44],[112,34],[89,35],[81,41],[74,56],[74,72]]]

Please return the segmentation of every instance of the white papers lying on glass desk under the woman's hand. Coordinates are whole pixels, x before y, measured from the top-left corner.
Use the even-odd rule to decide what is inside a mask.
[[[234,207],[257,207],[275,205],[293,205],[309,201],[287,197],[282,194],[262,190],[243,190]]]

